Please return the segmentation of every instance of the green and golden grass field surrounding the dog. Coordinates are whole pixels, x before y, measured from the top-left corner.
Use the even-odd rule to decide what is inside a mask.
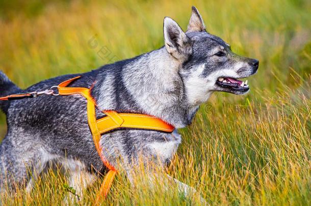
[[[17,85],[90,71],[163,45],[165,16],[186,29],[195,5],[207,30],[260,60],[245,96],[213,94],[166,169],[216,205],[311,205],[310,1],[0,1],[0,69]],[[89,44],[95,38],[97,46]],[[0,116],[0,139],[5,136]],[[7,205],[60,205],[66,178],[49,172]],[[91,204],[98,180],[77,204]],[[103,204],[192,205],[176,190],[132,189],[124,174]]]

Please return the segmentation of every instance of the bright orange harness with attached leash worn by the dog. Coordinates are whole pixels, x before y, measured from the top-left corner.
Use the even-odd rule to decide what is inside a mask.
[[[108,173],[103,179],[103,183],[100,187],[99,194],[96,197],[94,204],[99,204],[101,198],[105,198],[111,187],[112,181],[117,173],[116,169],[109,164],[105,157],[101,153],[101,147],[99,144],[101,134],[111,132],[115,129],[143,129],[143,130],[153,130],[171,133],[174,130],[174,127],[157,117],[147,115],[147,114],[136,114],[136,113],[117,113],[113,110],[103,110],[107,116],[102,117],[101,119],[96,120],[95,107],[96,103],[93,100],[90,89],[84,87],[66,87],[72,81],[80,78],[74,77],[72,79],[66,80],[60,83],[58,87],[59,95],[73,95],[80,94],[87,99],[87,114],[88,114],[88,123],[93,136],[93,141],[97,153],[105,166],[109,169]],[[41,94],[53,94],[53,91],[44,91],[39,93],[28,93],[28,94],[17,94],[9,95],[7,97],[2,97],[0,100],[10,100],[10,99],[20,99],[25,97],[37,97]]]

